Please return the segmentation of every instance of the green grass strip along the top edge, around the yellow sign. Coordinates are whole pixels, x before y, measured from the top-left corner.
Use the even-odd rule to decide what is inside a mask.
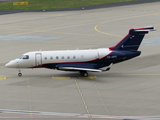
[[[101,5],[136,0],[15,0],[12,2],[0,3],[2,10],[43,10],[76,8],[82,6]],[[28,5],[13,5],[13,2],[28,2]]]

